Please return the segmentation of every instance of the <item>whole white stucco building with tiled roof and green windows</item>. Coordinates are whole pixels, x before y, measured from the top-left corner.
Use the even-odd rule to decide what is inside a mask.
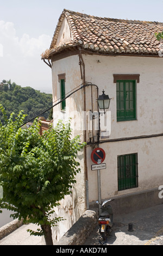
[[[73,135],[87,142],[74,192],[59,209],[68,216],[65,229],[98,200],[97,170],[91,168],[97,147],[105,151],[102,200],[115,198],[115,209],[126,212],[162,203],[163,58],[154,36],[159,31],[163,24],[158,22],[68,10],[59,18],[51,47],[42,55],[52,68],[53,102],[87,85],[53,108],[54,125],[58,118],[72,117]],[[99,134],[97,99],[103,89],[111,102],[100,115],[104,133]]]

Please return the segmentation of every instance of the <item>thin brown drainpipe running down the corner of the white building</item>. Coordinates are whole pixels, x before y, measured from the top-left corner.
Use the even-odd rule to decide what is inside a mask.
[[[80,65],[80,73],[81,79],[83,80],[83,84],[85,84],[85,64],[82,57],[81,47],[79,48],[79,65]],[[82,72],[83,65],[83,72]],[[86,97],[85,97],[85,87],[83,88],[84,92],[84,112],[86,112]],[[84,142],[86,142],[86,130],[84,130]],[[86,150],[84,148],[84,169],[85,169],[85,187],[86,187],[86,209],[89,209],[89,185],[88,185],[88,175],[87,175],[87,159],[86,159]]]

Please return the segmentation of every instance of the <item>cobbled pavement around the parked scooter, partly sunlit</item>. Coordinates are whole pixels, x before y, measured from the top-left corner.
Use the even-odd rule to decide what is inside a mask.
[[[97,226],[84,245],[100,245],[99,237]],[[105,245],[163,245],[163,204],[115,217]]]

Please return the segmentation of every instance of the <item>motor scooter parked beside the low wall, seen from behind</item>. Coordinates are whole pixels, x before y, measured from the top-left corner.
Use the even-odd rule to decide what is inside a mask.
[[[98,224],[99,224],[99,234],[101,234],[101,237],[99,238],[99,242],[104,244],[107,242],[108,235],[111,232],[111,227],[113,224],[113,211],[112,206],[108,204],[108,202],[112,201],[114,199],[108,199],[103,202],[101,205],[101,214],[99,214],[98,218]],[[99,202],[96,201],[96,203],[99,205]]]

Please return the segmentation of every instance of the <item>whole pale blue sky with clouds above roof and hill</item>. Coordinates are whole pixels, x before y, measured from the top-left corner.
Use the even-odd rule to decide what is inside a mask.
[[[163,22],[163,0],[0,0],[0,82],[52,92],[51,69],[41,60],[63,9],[100,17]]]

